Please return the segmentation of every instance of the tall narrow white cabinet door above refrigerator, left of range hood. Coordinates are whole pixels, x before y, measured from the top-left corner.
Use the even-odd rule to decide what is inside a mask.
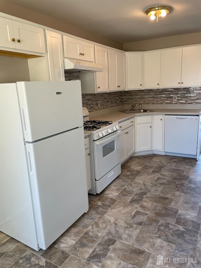
[[[47,52],[51,81],[65,81],[63,67],[62,37],[60,34],[46,31]]]

